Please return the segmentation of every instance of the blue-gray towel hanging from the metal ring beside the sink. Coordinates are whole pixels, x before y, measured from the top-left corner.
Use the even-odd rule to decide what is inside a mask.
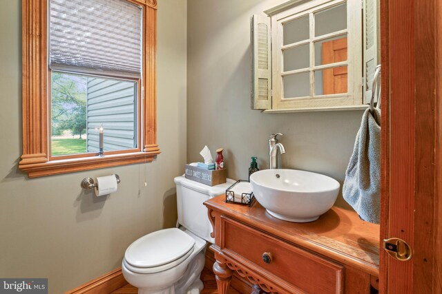
[[[365,110],[343,185],[343,197],[367,222],[379,223],[381,204],[381,112]]]

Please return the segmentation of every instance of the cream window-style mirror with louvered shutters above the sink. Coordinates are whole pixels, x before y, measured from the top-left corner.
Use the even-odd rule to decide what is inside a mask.
[[[344,109],[365,103],[369,81],[363,89],[363,72],[377,63],[372,54],[373,64],[363,71],[361,1],[289,1],[266,13],[269,17],[252,19],[253,109]],[[369,13],[373,27],[376,15]],[[374,35],[369,37],[376,40]]]

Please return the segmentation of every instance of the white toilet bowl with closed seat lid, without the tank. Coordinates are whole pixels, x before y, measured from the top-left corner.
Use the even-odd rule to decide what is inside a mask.
[[[189,231],[176,228],[156,231],[128,247],[122,272],[140,294],[186,293],[188,288],[183,286],[191,286],[200,277],[192,273],[201,273],[204,267],[205,246],[205,240]],[[199,293],[202,284],[196,286],[201,286],[196,292]]]

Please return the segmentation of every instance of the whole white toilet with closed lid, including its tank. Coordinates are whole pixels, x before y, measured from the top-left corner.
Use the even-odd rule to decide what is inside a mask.
[[[175,178],[180,228],[144,235],[124,253],[124,278],[139,294],[200,293],[206,241],[214,241],[202,202],[225,193],[233,183],[227,179],[225,184],[210,187],[184,176]]]

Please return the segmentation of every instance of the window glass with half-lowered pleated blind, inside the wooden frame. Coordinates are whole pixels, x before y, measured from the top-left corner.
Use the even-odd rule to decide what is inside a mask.
[[[142,6],[49,0],[49,11],[50,158],[140,151]]]

